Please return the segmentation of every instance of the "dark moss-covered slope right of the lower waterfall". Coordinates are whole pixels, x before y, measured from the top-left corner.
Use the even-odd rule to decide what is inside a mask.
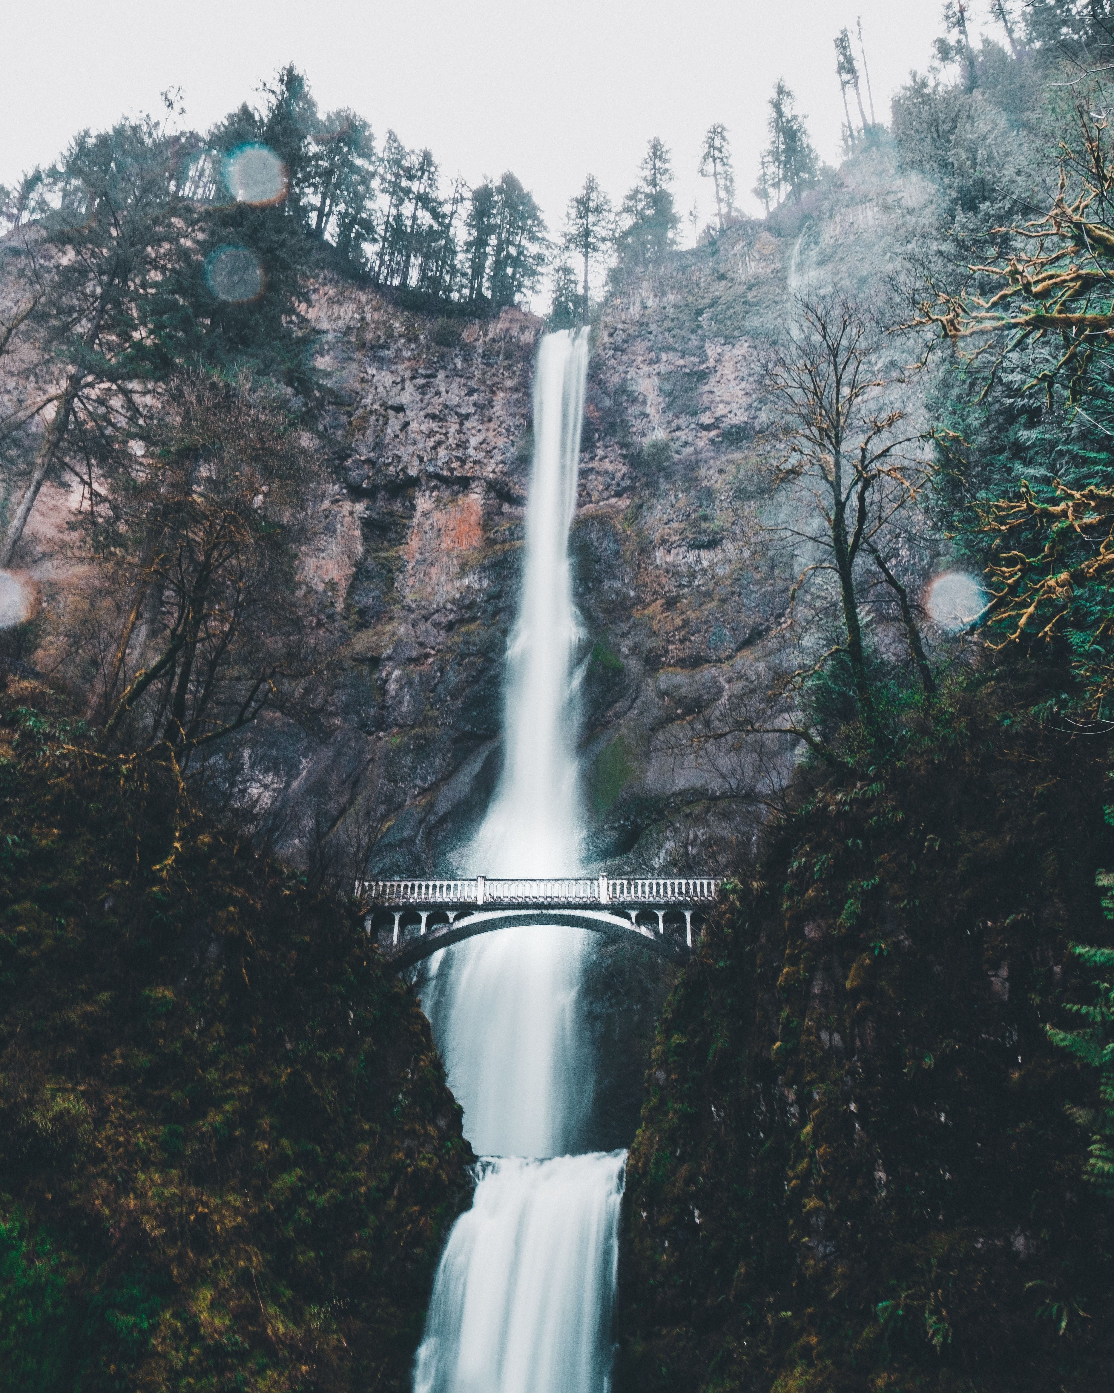
[[[1044,1032],[1090,999],[1068,943],[1110,942],[1107,751],[943,726],[812,791],[667,1004],[624,1390],[1114,1386],[1114,1215],[1065,1116],[1095,1081]]]

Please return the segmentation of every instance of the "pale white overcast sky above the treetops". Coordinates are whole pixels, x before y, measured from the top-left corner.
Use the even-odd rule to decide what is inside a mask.
[[[82,127],[162,109],[180,86],[205,130],[294,61],[320,107],[382,139],[427,145],[447,177],[515,174],[550,228],[590,170],[617,201],[652,135],[673,150],[677,202],[703,217],[702,132],[723,121],[744,206],[778,77],[813,141],[838,157],[833,39],[862,14],[879,120],[940,32],[940,0],[40,0],[8,7],[0,182],[50,162]],[[976,32],[987,0],[973,6]],[[982,24],[979,21],[983,21]],[[687,228],[688,231],[688,228]]]

